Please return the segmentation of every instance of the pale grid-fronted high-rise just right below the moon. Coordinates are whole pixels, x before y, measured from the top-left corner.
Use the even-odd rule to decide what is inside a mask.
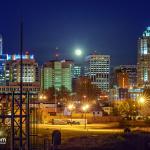
[[[102,91],[109,91],[110,56],[92,54],[86,57],[85,76]]]

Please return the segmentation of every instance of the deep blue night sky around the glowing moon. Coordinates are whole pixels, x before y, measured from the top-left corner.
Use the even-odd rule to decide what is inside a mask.
[[[61,58],[76,62],[97,51],[111,55],[112,66],[136,64],[138,37],[150,25],[150,0],[1,0],[4,53],[19,51],[20,16],[24,48],[40,64],[53,58],[56,47]],[[84,56],[74,56],[76,48]]]

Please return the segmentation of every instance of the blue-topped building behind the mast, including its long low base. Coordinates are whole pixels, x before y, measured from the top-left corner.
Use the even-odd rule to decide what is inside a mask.
[[[6,55],[4,63],[5,84],[0,85],[0,93],[9,93],[12,91],[18,92],[20,90],[20,69],[21,69],[21,56],[20,55]],[[40,91],[40,77],[38,64],[33,55],[26,52],[22,55],[23,58],[23,91],[39,92]]]

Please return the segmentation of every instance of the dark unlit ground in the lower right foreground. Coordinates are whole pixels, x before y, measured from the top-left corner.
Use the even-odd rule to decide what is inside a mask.
[[[150,150],[150,134],[102,134],[70,138],[59,150]]]

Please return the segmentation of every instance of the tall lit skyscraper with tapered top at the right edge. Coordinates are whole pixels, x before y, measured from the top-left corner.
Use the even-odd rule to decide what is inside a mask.
[[[137,75],[139,87],[150,86],[150,27],[138,40]]]

